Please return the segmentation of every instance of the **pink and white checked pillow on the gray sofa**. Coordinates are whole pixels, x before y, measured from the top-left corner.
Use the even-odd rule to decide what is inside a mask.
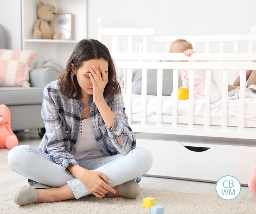
[[[0,49],[0,86],[30,87],[29,71],[37,53]]]

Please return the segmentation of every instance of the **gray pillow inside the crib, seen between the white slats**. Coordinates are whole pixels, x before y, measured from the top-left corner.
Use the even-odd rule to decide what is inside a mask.
[[[132,77],[132,93],[141,95],[141,79],[142,69],[133,70]],[[172,94],[173,70],[163,69],[163,95],[170,96]],[[182,83],[179,78],[179,87]],[[147,75],[147,95],[157,94],[157,69],[148,69]]]

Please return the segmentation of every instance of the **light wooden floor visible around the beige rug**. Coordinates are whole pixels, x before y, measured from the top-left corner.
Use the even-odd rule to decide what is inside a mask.
[[[19,145],[31,145],[38,147],[41,139],[37,130],[26,130],[17,134]],[[0,188],[26,180],[25,177],[13,172],[7,162],[8,149],[0,149]],[[184,193],[195,193],[203,195],[217,196],[215,192],[215,183],[186,181],[169,178],[156,178],[142,176],[139,183],[142,188],[165,189]],[[237,198],[256,200],[249,191],[248,187],[242,186],[241,192]]]

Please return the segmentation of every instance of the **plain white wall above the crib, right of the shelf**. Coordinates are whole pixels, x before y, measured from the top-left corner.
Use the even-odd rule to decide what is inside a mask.
[[[251,34],[255,0],[88,0],[88,38],[97,39],[97,18],[118,18],[154,28],[157,36]]]

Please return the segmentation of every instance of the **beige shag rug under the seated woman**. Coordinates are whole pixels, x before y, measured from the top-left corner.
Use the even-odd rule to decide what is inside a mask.
[[[26,181],[1,189],[0,213],[150,213],[150,209],[142,207],[142,199],[153,197],[156,205],[164,207],[164,213],[256,213],[256,202],[252,200],[234,199],[226,201],[218,196],[205,196],[190,193],[179,193],[169,190],[141,189],[136,199],[96,198],[85,196],[77,199],[54,203],[29,204],[18,206],[14,203],[16,191],[27,185]]]

